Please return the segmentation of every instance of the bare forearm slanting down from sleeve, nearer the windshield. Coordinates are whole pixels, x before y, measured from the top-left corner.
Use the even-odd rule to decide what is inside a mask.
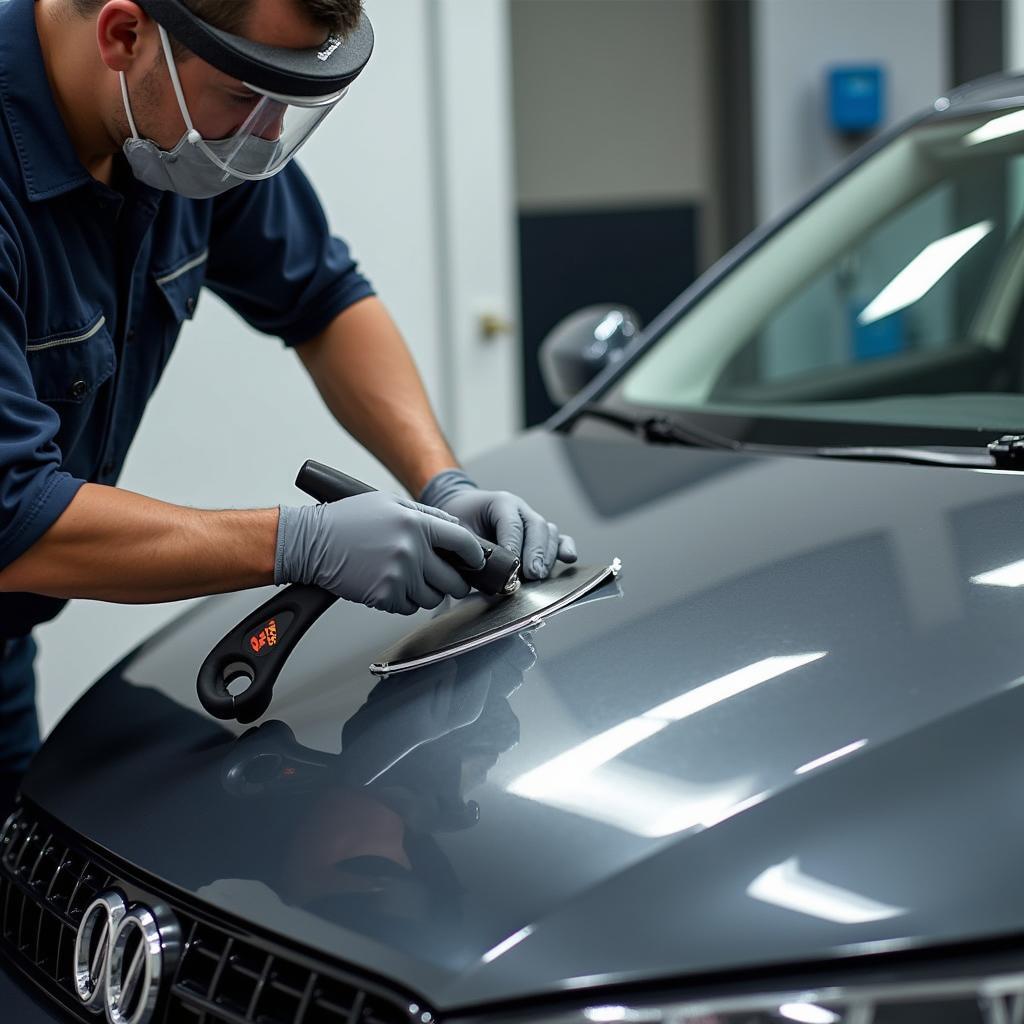
[[[409,348],[378,299],[350,306],[296,351],[338,422],[414,497],[457,465]]]

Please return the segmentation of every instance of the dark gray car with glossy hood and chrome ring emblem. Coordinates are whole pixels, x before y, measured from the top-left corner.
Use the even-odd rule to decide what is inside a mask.
[[[617,580],[383,679],[429,614],[335,605],[249,726],[254,595],[154,636],[4,828],[0,1020],[1021,1024],[1024,82],[546,359],[471,471]]]

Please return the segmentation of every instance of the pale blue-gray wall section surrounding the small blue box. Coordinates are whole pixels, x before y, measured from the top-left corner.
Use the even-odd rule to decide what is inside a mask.
[[[851,152],[827,123],[826,69],[881,63],[886,125],[949,85],[944,0],[756,0],[754,144],[758,217],[799,200]]]

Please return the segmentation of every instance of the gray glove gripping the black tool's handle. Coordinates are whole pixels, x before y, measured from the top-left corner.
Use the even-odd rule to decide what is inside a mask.
[[[327,505],[281,506],[273,582],[308,583],[348,601],[411,615],[469,586],[438,551],[470,568],[483,550],[437,509],[375,490]]]

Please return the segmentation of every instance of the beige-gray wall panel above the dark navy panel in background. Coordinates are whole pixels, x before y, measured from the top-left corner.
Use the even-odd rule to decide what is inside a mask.
[[[698,0],[513,0],[521,209],[713,199],[706,20]]]

